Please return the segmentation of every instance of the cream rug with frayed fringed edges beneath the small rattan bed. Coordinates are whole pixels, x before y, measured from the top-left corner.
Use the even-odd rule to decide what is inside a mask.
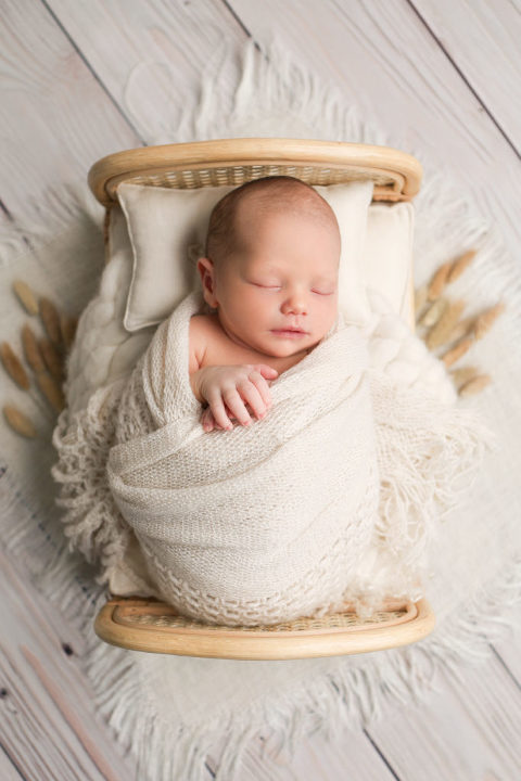
[[[92,622],[105,601],[97,571],[67,550],[50,468],[55,460],[51,433],[55,419],[37,390],[18,390],[2,372],[1,399],[38,421],[39,437],[23,439],[2,427],[0,529],[3,543],[24,562],[40,591],[86,638],[81,660],[97,691],[101,714],[138,761],[143,781],[208,776],[205,758],[225,743],[216,778],[240,777],[242,753],[262,734],[271,747],[293,751],[306,734],[331,739],[378,719],[383,702],[416,702],[429,695],[436,671],[486,658],[490,643],[510,628],[507,609],[521,598],[521,278],[500,239],[472,212],[418,149],[369,127],[341,95],[320,85],[276,48],[265,59],[253,44],[243,52],[230,99],[232,55],[226,49],[208,64],[193,105],[179,107],[181,120],[152,143],[240,136],[317,138],[387,144],[415,154],[424,180],[416,199],[416,284],[466,249],[478,255],[452,285],[455,296],[481,311],[499,299],[505,313],[469,353],[493,383],[461,398],[496,432],[491,453],[466,501],[441,520],[432,554],[428,598],[437,617],[434,632],[420,643],[368,655],[292,662],[234,662],[123,651],[101,642]],[[271,65],[270,63],[277,63]],[[152,77],[143,64],[130,75],[126,93],[131,113],[136,80]],[[173,76],[175,95],[175,76]],[[174,100],[174,98],[173,98]],[[49,193],[16,228],[2,235],[0,325],[2,341],[22,354],[20,331],[27,319],[11,292],[14,279],[30,281],[72,315],[96,292],[103,266],[102,213],[84,183],[60,197]],[[265,761],[270,761],[266,755]]]

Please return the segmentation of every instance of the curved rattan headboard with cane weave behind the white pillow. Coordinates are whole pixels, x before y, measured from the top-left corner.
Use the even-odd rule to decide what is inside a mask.
[[[191,189],[234,184],[265,176],[293,176],[309,184],[374,182],[373,201],[410,201],[420,189],[420,163],[390,146],[243,138],[144,146],[98,161],[89,185],[110,207],[120,182]]]

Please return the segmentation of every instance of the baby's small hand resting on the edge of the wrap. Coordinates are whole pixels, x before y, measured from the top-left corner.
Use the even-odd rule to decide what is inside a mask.
[[[241,425],[250,425],[252,419],[245,402],[258,419],[271,407],[266,380],[276,380],[279,372],[267,363],[204,367],[200,372],[199,390],[208,402],[201,423],[207,432],[214,427],[233,428],[230,420],[233,415]]]

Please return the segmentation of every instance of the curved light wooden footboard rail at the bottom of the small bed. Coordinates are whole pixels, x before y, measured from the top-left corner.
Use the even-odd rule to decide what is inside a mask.
[[[259,627],[200,624],[163,602],[113,599],[94,630],[113,645],[134,651],[232,660],[290,660],[366,653],[427,637],[434,614],[425,599],[390,605],[369,619],[353,612]]]

